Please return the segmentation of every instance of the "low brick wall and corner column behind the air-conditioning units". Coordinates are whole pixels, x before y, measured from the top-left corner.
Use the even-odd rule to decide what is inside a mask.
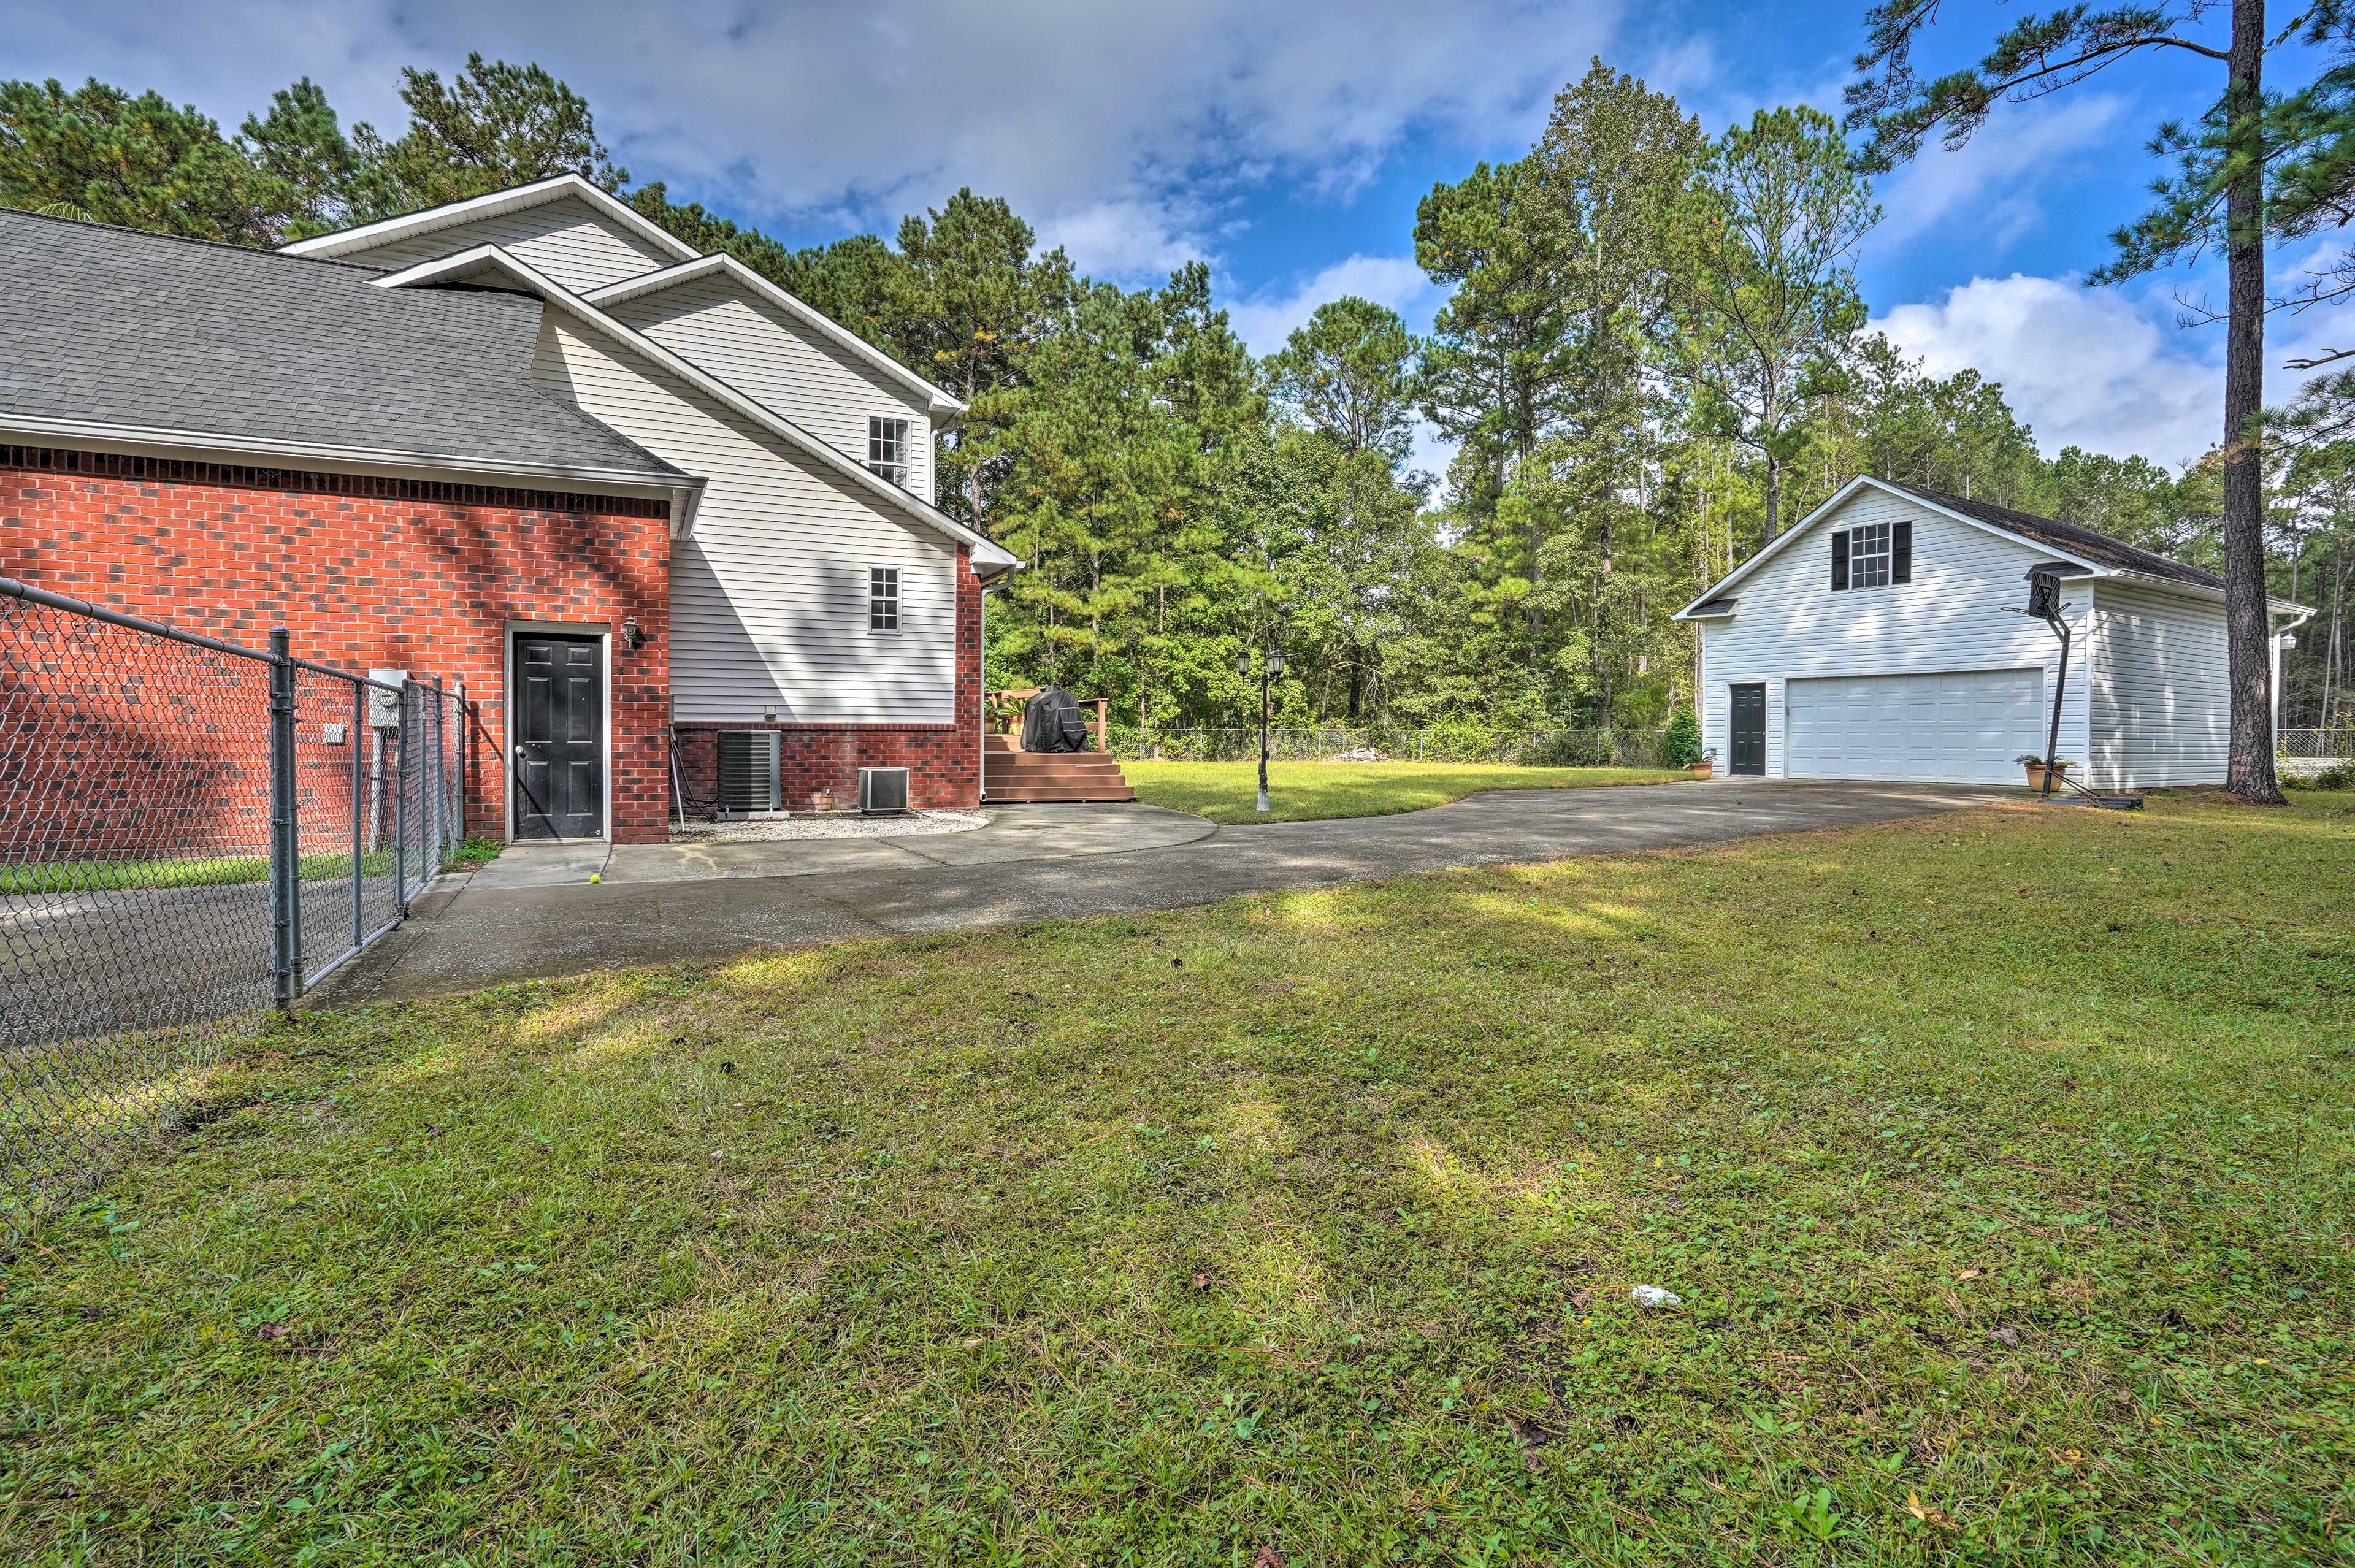
[[[944,725],[791,725],[758,718],[737,725],[678,725],[688,793],[718,798],[718,732],[777,730],[780,796],[810,810],[820,789],[836,805],[860,803],[860,768],[907,768],[911,805],[973,808],[982,798],[982,586],[973,553],[956,546],[956,720]]]

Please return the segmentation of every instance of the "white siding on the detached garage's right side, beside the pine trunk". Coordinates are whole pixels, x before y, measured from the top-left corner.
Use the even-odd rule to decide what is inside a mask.
[[[2087,782],[2223,784],[2233,758],[2223,605],[2105,582],[2094,610],[2094,744],[2077,753]]]

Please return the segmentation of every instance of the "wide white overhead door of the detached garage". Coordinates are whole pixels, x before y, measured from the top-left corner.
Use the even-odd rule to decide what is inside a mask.
[[[1790,777],[2018,784],[2044,751],[2044,671],[1844,676],[1787,687]]]

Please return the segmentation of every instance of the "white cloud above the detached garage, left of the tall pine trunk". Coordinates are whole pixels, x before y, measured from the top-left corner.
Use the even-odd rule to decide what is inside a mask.
[[[1898,306],[1872,327],[1933,377],[1969,367],[2002,381],[2046,454],[2077,445],[2181,464],[2223,426],[2221,337],[2176,327],[2164,297],[2014,273]]]

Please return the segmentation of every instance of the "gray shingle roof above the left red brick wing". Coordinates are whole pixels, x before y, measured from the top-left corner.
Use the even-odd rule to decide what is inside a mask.
[[[537,299],[0,210],[0,414],[676,478],[532,381]]]

